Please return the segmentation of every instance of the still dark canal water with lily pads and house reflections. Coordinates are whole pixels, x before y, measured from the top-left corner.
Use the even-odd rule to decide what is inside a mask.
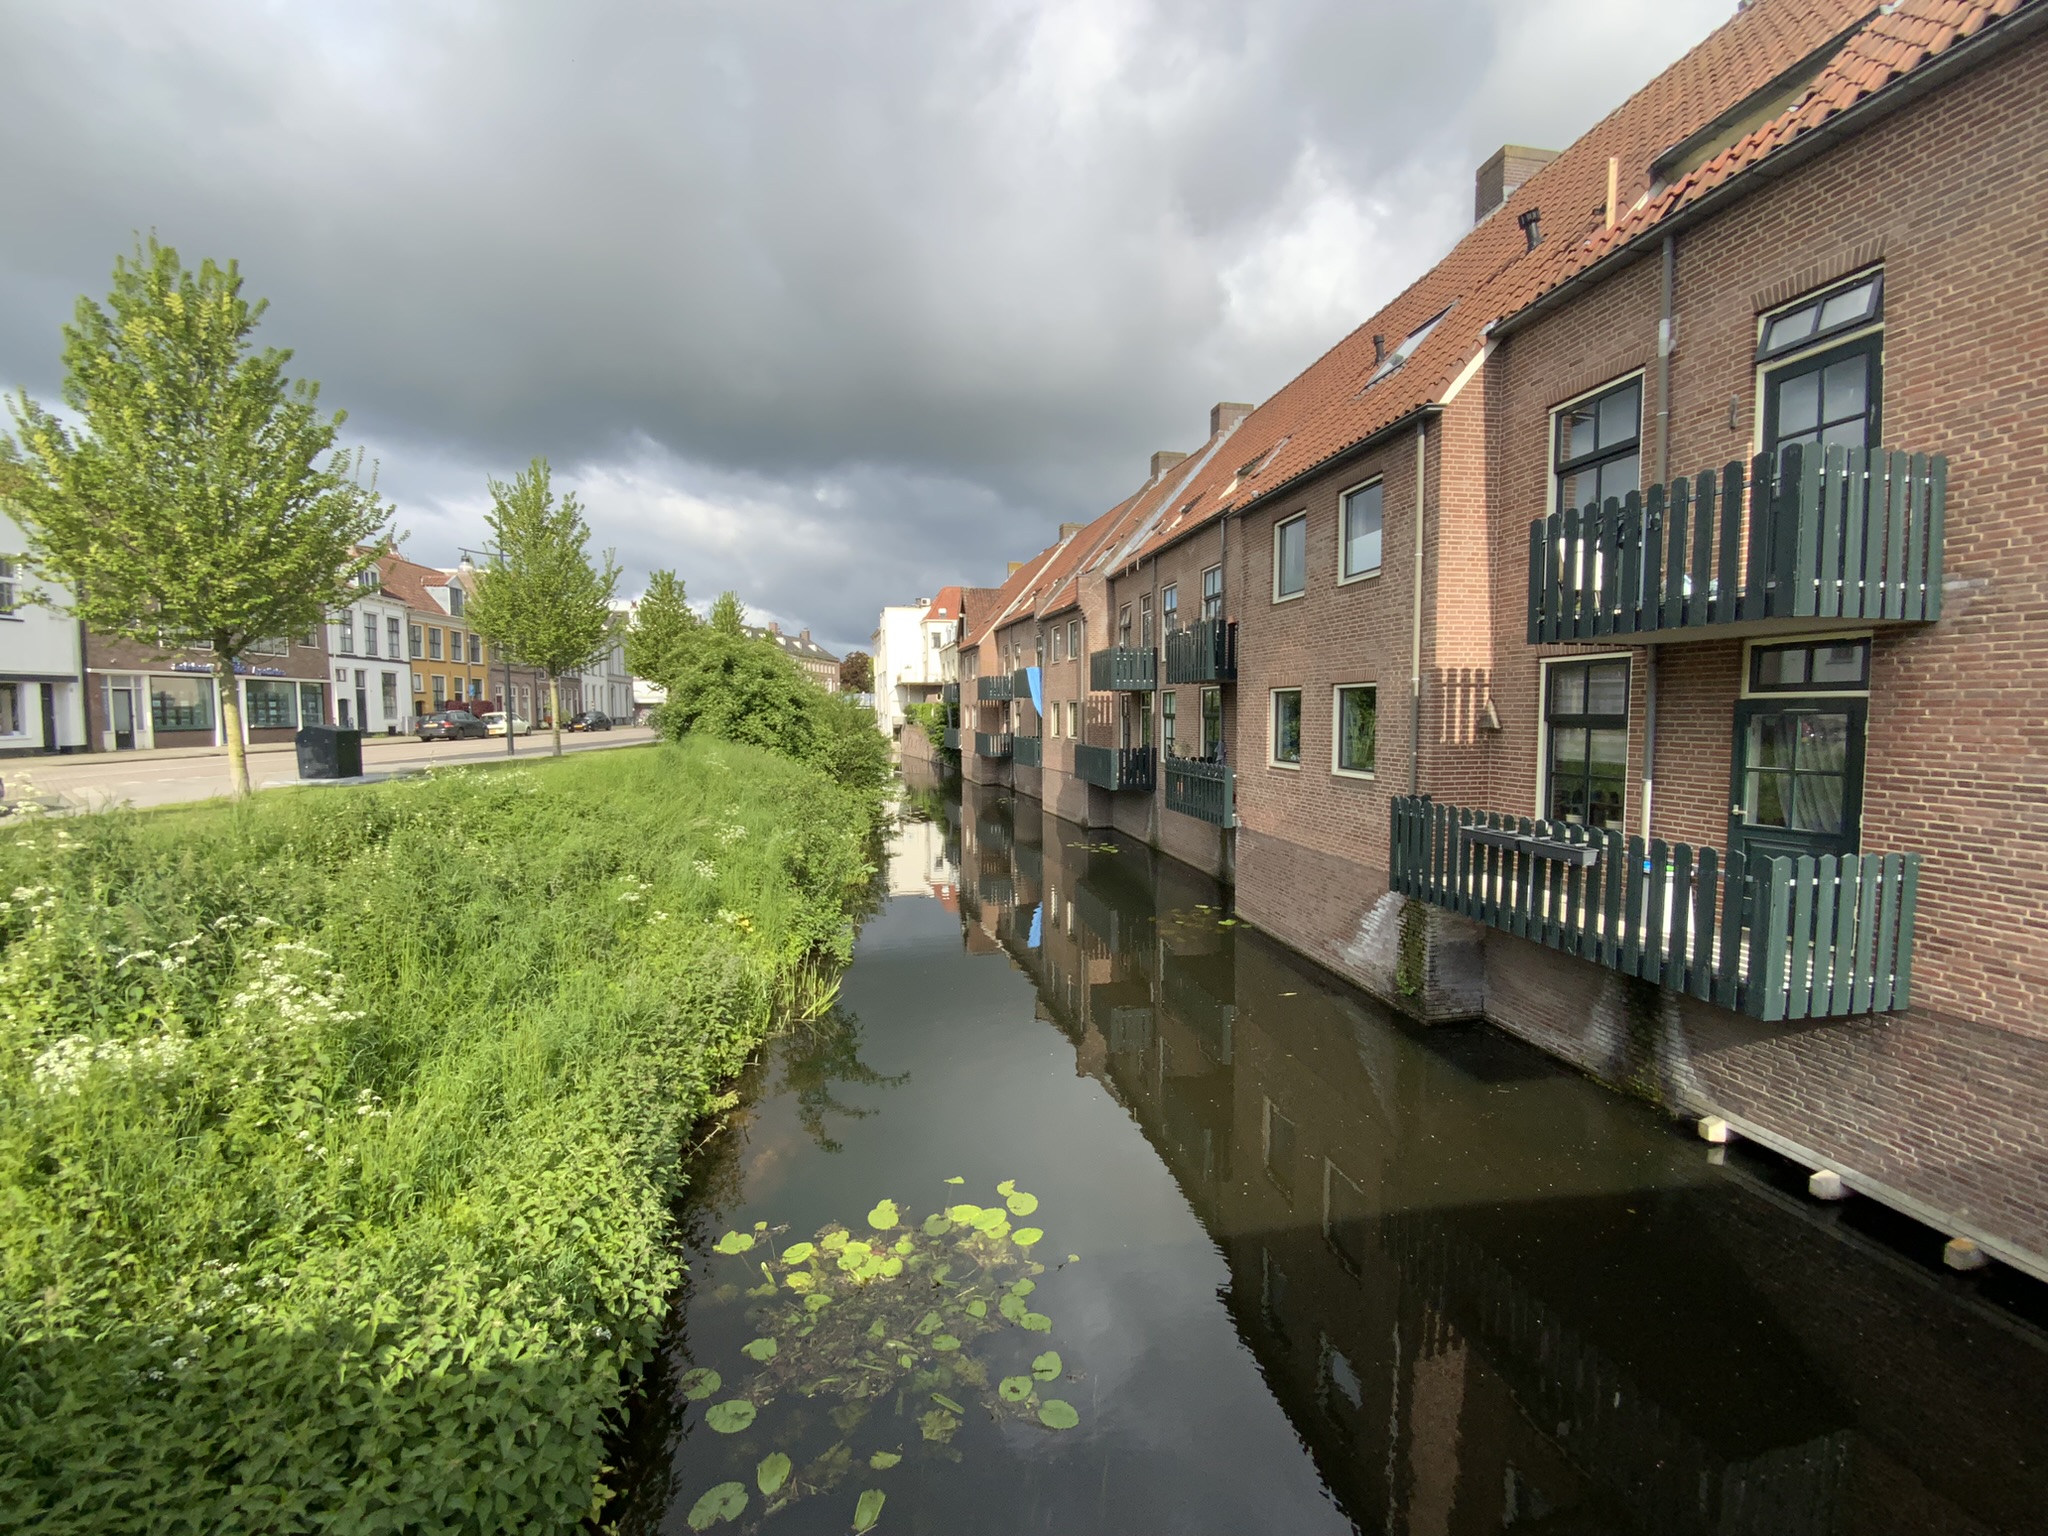
[[[2030,1286],[965,791],[696,1153],[621,1530],[2048,1532]]]

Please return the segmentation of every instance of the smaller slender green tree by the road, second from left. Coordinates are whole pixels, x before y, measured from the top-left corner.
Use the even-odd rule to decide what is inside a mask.
[[[547,713],[561,756],[561,680],[596,662],[614,639],[618,565],[590,561],[590,524],[573,494],[557,498],[547,459],[508,485],[494,479],[485,516],[498,561],[477,575],[469,627],[520,666],[547,674]]]

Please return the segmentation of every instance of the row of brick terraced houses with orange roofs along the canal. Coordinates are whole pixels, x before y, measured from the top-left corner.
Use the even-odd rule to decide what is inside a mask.
[[[1753,0],[1493,156],[1380,313],[961,590],[967,778],[2048,1278],[2044,29]]]

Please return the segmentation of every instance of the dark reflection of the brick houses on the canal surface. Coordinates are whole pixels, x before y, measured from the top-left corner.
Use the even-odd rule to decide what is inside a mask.
[[[965,784],[958,909],[1143,1128],[1362,1530],[2048,1528],[2048,1341],[1143,844]],[[954,823],[948,823],[954,825]]]

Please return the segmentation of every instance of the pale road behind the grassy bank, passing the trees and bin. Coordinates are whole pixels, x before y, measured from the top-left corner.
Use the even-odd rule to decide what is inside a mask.
[[[653,731],[623,725],[612,731],[592,735],[569,735],[563,731],[563,752],[604,752],[608,748],[631,748],[653,741]],[[518,737],[518,758],[532,760],[549,754],[551,739],[537,731]],[[428,768],[449,762],[504,762],[504,737],[485,741],[414,741],[410,737],[371,737],[362,743],[365,774],[393,774],[412,768]],[[139,752],[94,752],[72,758],[18,758],[0,762],[0,782],[6,797],[37,799],[57,797],[61,807],[90,809],[109,805],[176,805],[178,801],[207,801],[227,793],[227,756],[176,756]],[[250,782],[256,788],[299,782],[299,760],[293,752],[250,752]]]

